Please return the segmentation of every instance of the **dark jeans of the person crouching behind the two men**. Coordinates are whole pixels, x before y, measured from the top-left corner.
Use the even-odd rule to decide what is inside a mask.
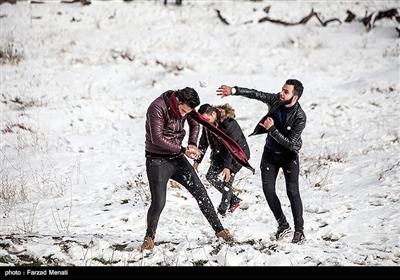
[[[228,182],[218,178],[223,169],[223,160],[213,160],[206,174],[207,181],[222,194],[221,202],[218,206],[218,211],[221,213],[225,213],[228,208],[240,201],[240,198],[232,191],[232,184],[235,180],[235,174],[241,169],[241,166],[236,167],[235,170],[231,170],[231,179]]]

